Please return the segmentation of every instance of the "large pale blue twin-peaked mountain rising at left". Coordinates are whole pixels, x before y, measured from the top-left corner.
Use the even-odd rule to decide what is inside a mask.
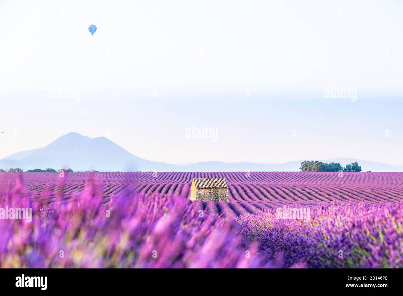
[[[137,157],[105,137],[91,139],[69,132],[45,147],[5,157],[0,160],[0,167],[23,170],[173,171],[175,166]]]

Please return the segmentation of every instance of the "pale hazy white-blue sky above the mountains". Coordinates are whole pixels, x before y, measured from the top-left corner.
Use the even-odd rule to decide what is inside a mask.
[[[168,163],[402,165],[402,15],[401,1],[0,0],[0,158],[74,131]]]

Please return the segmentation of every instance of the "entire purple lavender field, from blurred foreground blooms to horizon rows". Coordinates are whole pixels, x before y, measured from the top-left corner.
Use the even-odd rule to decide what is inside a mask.
[[[229,204],[193,203],[226,178]],[[403,173],[0,173],[0,267],[403,267]],[[0,213],[1,214],[1,213]]]

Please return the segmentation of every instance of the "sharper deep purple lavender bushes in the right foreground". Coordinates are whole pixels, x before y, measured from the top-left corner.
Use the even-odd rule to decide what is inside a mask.
[[[284,219],[276,209],[238,218],[243,236],[259,243],[268,260],[285,267],[403,267],[403,202],[397,205],[324,203],[309,221]]]

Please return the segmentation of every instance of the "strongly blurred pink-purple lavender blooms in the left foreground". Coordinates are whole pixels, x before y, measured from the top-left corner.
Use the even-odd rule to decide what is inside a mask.
[[[50,191],[32,200],[21,178],[1,195],[0,207],[32,207],[33,218],[0,220],[2,268],[262,267],[239,225],[200,213],[187,199],[123,190],[108,201],[90,178],[79,195],[48,203]]]

